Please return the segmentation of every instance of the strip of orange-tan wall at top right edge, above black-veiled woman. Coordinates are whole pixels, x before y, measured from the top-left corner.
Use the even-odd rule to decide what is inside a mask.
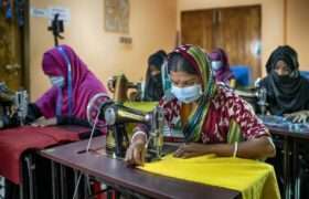
[[[300,70],[309,71],[309,1],[287,1],[287,43],[299,55]]]

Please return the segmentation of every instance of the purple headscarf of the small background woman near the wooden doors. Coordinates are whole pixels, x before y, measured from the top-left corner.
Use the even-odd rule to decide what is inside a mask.
[[[224,82],[226,84],[230,83],[231,78],[234,77],[232,71],[230,70],[230,64],[227,60],[227,55],[223,49],[215,49],[212,53],[210,53],[211,61],[221,61],[222,67],[215,72],[215,80],[217,82]]]

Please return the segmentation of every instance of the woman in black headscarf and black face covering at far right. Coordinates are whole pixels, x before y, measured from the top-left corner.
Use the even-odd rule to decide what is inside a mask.
[[[300,75],[298,67],[297,52],[288,45],[278,46],[266,63],[267,76],[259,86],[267,91],[270,114],[306,122],[309,116],[309,81]]]

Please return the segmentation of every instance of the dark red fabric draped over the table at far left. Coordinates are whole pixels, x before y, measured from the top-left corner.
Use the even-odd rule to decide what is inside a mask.
[[[84,128],[85,130],[85,128]],[[0,176],[20,184],[23,153],[78,140],[78,130],[24,126],[0,132]]]

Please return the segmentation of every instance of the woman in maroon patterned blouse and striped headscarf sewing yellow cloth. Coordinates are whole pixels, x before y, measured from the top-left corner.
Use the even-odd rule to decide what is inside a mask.
[[[168,61],[172,96],[160,101],[171,128],[180,121],[185,143],[174,153],[189,158],[205,154],[266,158],[275,156],[270,134],[251,106],[224,84],[215,83],[203,50],[177,48]],[[138,126],[126,154],[130,165],[142,165],[147,127]]]

